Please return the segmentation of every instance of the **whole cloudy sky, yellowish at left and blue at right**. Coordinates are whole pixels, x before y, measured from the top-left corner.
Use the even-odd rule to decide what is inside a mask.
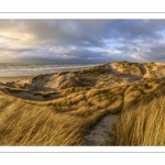
[[[0,63],[165,62],[165,20],[0,20]]]

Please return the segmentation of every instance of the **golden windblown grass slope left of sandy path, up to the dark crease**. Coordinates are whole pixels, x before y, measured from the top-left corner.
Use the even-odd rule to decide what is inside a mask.
[[[2,89],[0,145],[82,145],[97,121],[120,109],[121,100],[114,94],[120,97],[122,90],[75,89],[52,101],[29,101]],[[116,106],[110,106],[112,101]]]

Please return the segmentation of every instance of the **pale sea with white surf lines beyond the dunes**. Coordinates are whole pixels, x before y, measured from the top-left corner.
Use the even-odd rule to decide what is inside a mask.
[[[98,64],[14,64],[0,63],[0,77],[33,76],[74,70],[96,66]]]

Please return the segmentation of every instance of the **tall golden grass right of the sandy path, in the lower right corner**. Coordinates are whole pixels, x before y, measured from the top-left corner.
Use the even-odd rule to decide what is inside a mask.
[[[116,125],[112,145],[165,145],[165,88],[125,109]],[[143,100],[143,101],[142,101]]]

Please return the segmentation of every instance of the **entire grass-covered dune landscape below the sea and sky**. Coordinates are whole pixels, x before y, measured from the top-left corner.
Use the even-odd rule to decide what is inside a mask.
[[[164,63],[114,62],[0,82],[0,145],[165,145]]]

